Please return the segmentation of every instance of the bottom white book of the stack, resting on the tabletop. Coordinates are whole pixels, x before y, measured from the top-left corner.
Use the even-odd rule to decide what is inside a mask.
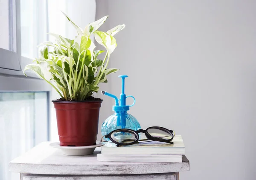
[[[182,155],[112,155],[97,154],[98,161],[113,162],[158,162],[158,163],[181,163]]]

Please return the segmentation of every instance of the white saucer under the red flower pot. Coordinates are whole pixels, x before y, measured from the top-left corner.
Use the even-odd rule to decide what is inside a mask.
[[[93,154],[96,147],[103,146],[105,143],[98,142],[93,146],[60,146],[60,142],[50,143],[53,148],[61,149],[63,154],[69,156],[83,156]]]

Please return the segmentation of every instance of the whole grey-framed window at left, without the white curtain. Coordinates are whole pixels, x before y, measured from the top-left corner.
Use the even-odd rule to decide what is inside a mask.
[[[47,40],[46,12],[47,0],[0,0],[0,180],[19,179],[9,161],[50,137],[52,88],[32,72],[23,75]]]

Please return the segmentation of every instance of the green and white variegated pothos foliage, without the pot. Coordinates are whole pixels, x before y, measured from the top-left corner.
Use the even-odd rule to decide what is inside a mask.
[[[24,68],[24,74],[30,69],[46,80],[62,99],[81,101],[91,96],[93,92],[98,92],[98,84],[107,83],[108,74],[119,70],[107,69],[107,67],[110,54],[117,46],[113,36],[124,29],[125,25],[118,25],[107,32],[98,31],[108,18],[105,16],[89,23],[83,30],[66,14],[64,15],[76,28],[78,36],[70,40],[61,35],[49,33],[55,37],[55,41],[47,41],[38,46],[39,58]],[[96,46],[90,39],[92,34],[106,51],[94,50]],[[97,58],[101,53],[105,53],[103,60]]]

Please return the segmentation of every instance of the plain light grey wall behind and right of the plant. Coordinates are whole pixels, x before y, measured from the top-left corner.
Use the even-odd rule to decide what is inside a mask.
[[[256,1],[96,0],[96,19],[107,14],[102,30],[126,27],[109,66],[120,71],[100,90],[119,95],[129,75],[141,126],[183,136],[181,180],[254,180]],[[113,105],[101,97],[100,125]]]

